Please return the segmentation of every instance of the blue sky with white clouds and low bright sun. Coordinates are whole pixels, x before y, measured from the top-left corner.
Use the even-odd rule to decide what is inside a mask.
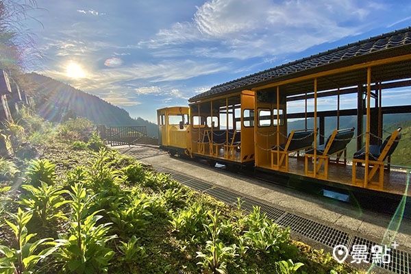
[[[411,25],[403,0],[36,3],[42,24],[26,25],[45,60],[29,70],[154,122],[212,86]]]

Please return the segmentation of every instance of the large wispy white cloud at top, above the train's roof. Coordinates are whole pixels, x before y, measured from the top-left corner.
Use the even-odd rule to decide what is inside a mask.
[[[192,21],[161,29],[138,45],[158,49],[205,42],[193,54],[241,60],[293,53],[358,34],[383,9],[378,1],[210,0],[197,8]]]

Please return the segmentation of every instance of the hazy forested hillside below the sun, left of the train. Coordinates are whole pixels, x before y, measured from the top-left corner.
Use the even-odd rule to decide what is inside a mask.
[[[82,116],[96,125],[145,125],[149,136],[158,135],[158,127],[154,123],[140,117],[133,119],[127,111],[95,95],[37,73],[29,73],[25,77],[26,82],[34,83],[36,111],[48,121],[60,122]]]

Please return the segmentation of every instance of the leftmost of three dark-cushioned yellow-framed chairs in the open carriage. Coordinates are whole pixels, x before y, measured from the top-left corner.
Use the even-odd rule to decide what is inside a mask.
[[[289,153],[310,149],[312,142],[314,142],[314,129],[292,130],[288,134],[287,142],[271,147],[271,168],[288,172]]]

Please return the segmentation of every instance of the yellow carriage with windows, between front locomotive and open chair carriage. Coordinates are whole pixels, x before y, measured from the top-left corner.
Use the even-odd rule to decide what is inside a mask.
[[[216,162],[253,165],[254,94],[251,90],[190,103],[192,155]]]

